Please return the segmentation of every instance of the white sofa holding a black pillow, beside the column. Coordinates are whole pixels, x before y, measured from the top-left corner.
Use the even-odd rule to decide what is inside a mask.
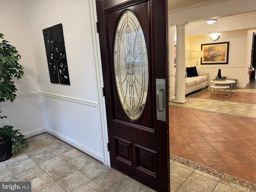
[[[186,66],[190,67],[190,66]],[[189,94],[196,90],[207,88],[209,85],[209,72],[201,72],[201,67],[196,67],[196,71],[198,76],[188,77],[187,70],[186,71],[186,92],[185,94]]]

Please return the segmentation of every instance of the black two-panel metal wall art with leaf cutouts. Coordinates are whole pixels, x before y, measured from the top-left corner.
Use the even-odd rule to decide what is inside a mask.
[[[70,85],[62,24],[43,29],[51,83]]]

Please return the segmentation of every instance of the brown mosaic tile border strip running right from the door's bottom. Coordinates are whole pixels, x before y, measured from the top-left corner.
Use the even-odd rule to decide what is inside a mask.
[[[242,187],[244,187],[244,188],[248,188],[248,189],[250,189],[250,190],[256,190],[256,184],[253,184],[253,183],[251,183],[251,182],[248,182],[248,181],[239,179],[239,178],[237,178],[237,177],[235,177],[235,176],[231,176],[231,175],[228,175],[228,174],[226,174],[226,173],[223,173],[223,172],[214,170],[214,169],[212,169],[212,168],[209,168],[209,167],[200,165],[200,164],[198,164],[198,163],[195,163],[195,162],[186,160],[186,159],[181,158],[181,157],[178,157],[178,156],[176,156],[176,155],[170,154],[170,160],[179,162],[179,163],[181,163],[181,164],[184,164],[184,165],[186,165],[186,166],[192,167],[192,168],[194,168],[194,169],[197,169],[197,170],[200,170],[200,171],[202,171],[202,172],[205,172],[205,173],[211,174],[211,175],[213,175],[213,176],[216,176],[216,177],[218,177],[218,178],[227,180],[227,181],[229,181],[229,182],[232,182],[232,183],[237,184],[237,185],[239,185],[239,186],[242,186]]]

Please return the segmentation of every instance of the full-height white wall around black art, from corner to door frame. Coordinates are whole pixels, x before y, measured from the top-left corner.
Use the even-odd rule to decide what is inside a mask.
[[[25,6],[46,131],[104,162],[89,0],[25,0]],[[50,83],[46,60],[42,30],[60,23],[70,86]]]

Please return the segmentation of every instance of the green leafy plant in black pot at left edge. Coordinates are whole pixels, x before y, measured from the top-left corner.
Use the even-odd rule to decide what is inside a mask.
[[[0,33],[0,38],[4,39]],[[16,48],[8,41],[0,42],[0,102],[10,100],[13,102],[16,97],[16,86],[12,78],[21,78],[24,74],[23,67],[18,63],[20,54]],[[1,110],[0,110],[1,113]],[[0,118],[7,118],[0,115]],[[0,127],[0,162],[7,160],[12,153],[28,146],[28,139],[19,130],[14,130],[13,126],[5,125]]]

